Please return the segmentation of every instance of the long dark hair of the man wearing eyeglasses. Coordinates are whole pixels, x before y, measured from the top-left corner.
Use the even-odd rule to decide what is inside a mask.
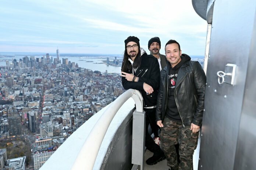
[[[141,66],[141,47],[139,46],[139,44],[138,44],[138,49],[139,49],[139,52],[138,52],[137,56],[135,57],[134,63],[133,63],[134,68],[138,68],[139,66]],[[132,69],[132,65],[128,61],[128,58],[129,58],[129,55],[127,53],[127,48],[125,47],[124,59],[123,59],[122,68],[121,68],[122,72],[127,72],[127,70]]]

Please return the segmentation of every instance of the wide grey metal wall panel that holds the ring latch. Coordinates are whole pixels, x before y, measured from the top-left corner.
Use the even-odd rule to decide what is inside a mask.
[[[237,142],[243,141],[240,137],[244,137],[242,131],[239,136],[238,132],[239,128],[245,129],[245,123],[241,127],[239,124],[246,100],[245,82],[250,81],[246,77],[248,59],[251,48],[255,47],[252,45],[255,8],[255,0],[214,2],[199,169],[234,169],[235,157],[239,159],[243,152],[241,148],[236,153],[236,148]],[[217,72],[224,71],[228,63],[237,65],[235,86],[220,85],[217,81]],[[255,135],[253,138],[255,141]]]

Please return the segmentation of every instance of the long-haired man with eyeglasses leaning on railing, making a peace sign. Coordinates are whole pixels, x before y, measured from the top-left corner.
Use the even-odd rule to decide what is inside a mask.
[[[146,112],[145,145],[153,156],[146,160],[149,165],[156,164],[166,159],[160,149],[148,133],[150,122],[155,120],[157,90],[159,88],[160,70],[157,59],[147,55],[140,48],[139,39],[129,36],[125,41],[124,59],[122,62],[122,86],[125,90],[136,89],[141,91],[143,97],[143,109]]]

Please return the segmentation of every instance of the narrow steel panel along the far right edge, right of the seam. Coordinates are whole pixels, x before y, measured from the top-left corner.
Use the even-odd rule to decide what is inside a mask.
[[[253,16],[252,16],[253,17]],[[234,170],[256,169],[256,14],[249,53],[245,93],[241,121],[238,134],[237,151],[235,153]]]

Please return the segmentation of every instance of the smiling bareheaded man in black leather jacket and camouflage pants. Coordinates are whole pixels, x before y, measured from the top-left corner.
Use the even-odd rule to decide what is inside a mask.
[[[171,170],[192,170],[193,153],[202,126],[206,76],[198,61],[182,54],[179,43],[165,47],[167,66],[160,73],[156,121]],[[180,163],[174,145],[179,143]]]

